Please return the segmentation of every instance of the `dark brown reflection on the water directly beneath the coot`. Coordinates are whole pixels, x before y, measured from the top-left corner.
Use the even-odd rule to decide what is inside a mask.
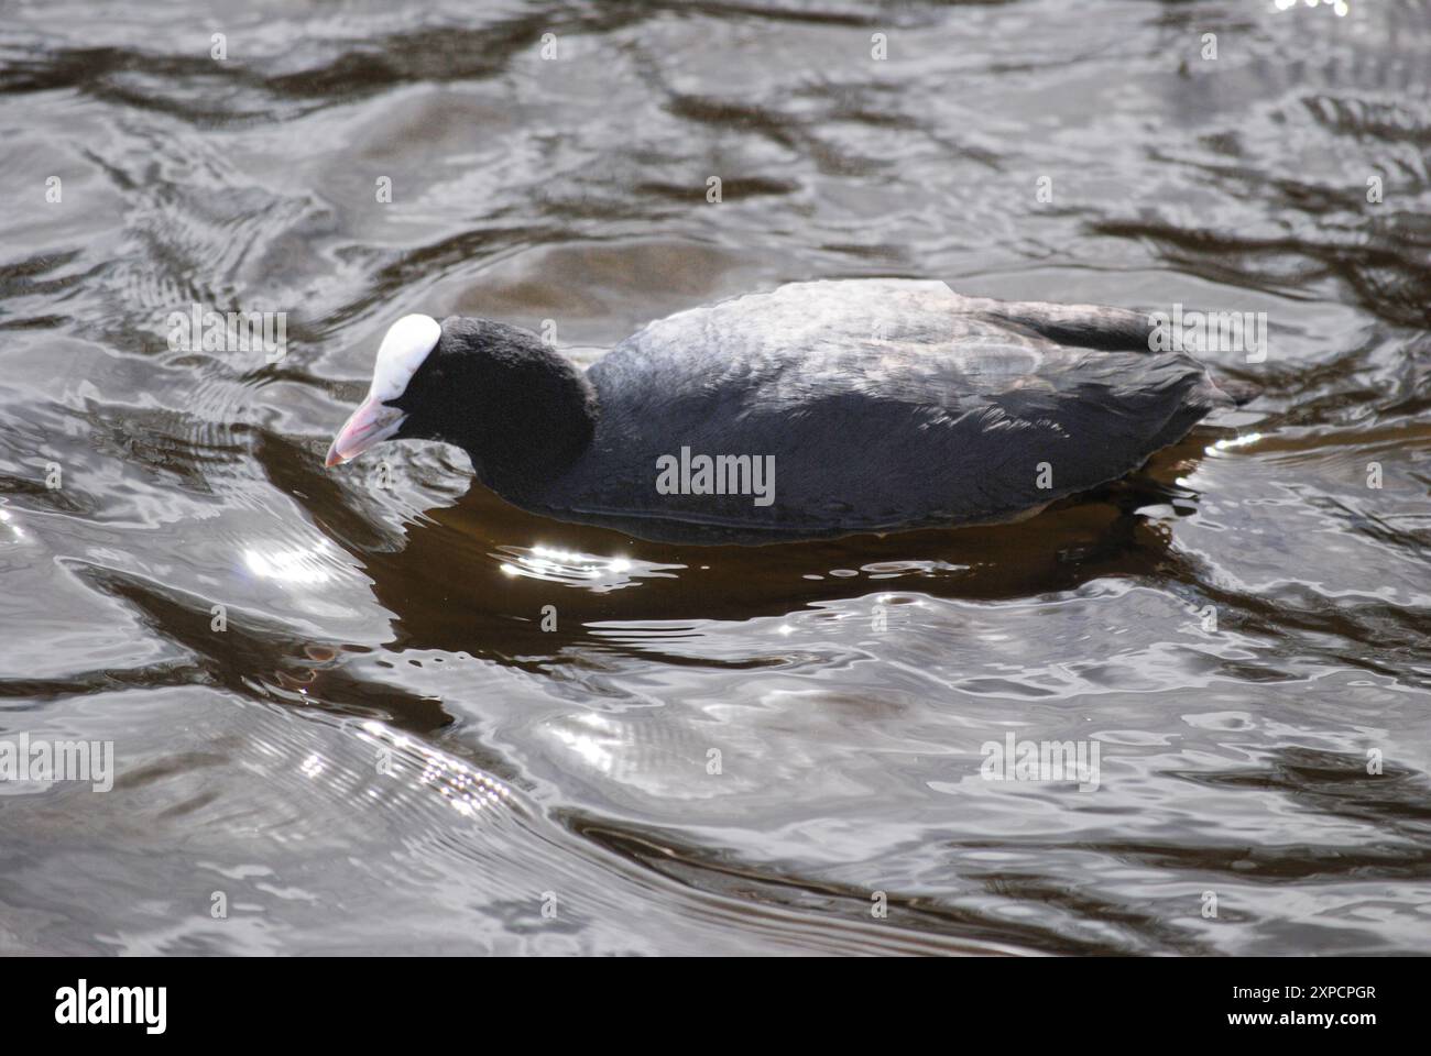
[[[402,548],[362,558],[396,617],[395,647],[521,664],[611,648],[591,624],[780,617],[896,582],[946,598],[1029,597],[1108,575],[1163,577],[1186,561],[1149,511],[1195,508],[1186,481],[1208,442],[1195,434],[1141,474],[1017,524],[770,547],[683,547],[558,524],[474,482],[455,505],[409,524]]]

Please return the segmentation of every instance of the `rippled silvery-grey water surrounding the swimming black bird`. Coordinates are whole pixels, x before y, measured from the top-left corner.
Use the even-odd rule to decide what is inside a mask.
[[[6,4],[0,738],[117,777],[0,783],[0,950],[1425,950],[1431,7],[1348,4]],[[590,359],[866,275],[1266,312],[1264,396],[758,549],[322,466],[404,312]]]

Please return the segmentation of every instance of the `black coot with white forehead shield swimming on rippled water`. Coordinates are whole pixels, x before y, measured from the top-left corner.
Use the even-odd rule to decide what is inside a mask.
[[[1010,521],[1232,404],[1149,332],[943,282],[798,282],[653,322],[582,371],[515,326],[409,315],[328,465],[445,441],[508,502],[665,542]]]

